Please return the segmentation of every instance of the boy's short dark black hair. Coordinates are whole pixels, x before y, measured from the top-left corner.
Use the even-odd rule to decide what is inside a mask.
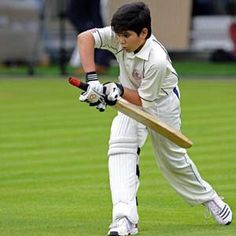
[[[146,38],[149,38],[152,34],[150,10],[143,2],[122,5],[113,15],[111,27],[117,34],[131,30],[137,35],[140,35],[143,28],[147,28]]]

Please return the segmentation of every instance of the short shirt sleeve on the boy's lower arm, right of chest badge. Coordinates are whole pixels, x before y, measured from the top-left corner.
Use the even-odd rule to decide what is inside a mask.
[[[165,60],[159,60],[149,68],[146,68],[141,85],[138,88],[138,93],[144,108],[152,106],[155,100],[160,97],[166,72],[167,63]]]

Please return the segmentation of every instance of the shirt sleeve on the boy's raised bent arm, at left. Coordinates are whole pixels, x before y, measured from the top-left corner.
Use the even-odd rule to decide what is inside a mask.
[[[118,41],[110,26],[95,28],[92,30],[95,39],[95,48],[101,48],[116,54],[118,52]]]

